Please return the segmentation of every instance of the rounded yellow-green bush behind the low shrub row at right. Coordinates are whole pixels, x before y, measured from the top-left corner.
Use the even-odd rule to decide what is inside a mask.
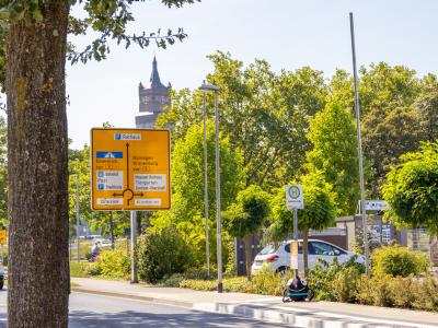
[[[372,273],[407,277],[427,271],[429,259],[419,251],[411,251],[406,247],[384,246],[376,249],[371,257]]]

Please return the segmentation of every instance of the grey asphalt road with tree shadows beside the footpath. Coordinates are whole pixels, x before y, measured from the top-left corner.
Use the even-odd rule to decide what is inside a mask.
[[[5,327],[7,292],[0,292],[0,327]],[[84,293],[70,295],[71,328],[82,327],[285,327],[231,315]],[[290,326],[289,326],[290,327]]]

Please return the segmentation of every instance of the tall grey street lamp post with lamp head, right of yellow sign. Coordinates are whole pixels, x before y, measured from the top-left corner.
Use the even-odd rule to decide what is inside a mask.
[[[220,216],[220,160],[219,160],[219,108],[218,108],[218,92],[219,87],[211,84],[205,84],[199,87],[204,91],[215,92],[215,118],[216,118],[216,231],[217,231],[217,260],[218,260],[218,293],[222,293],[222,231],[221,231],[221,216]],[[204,98],[205,99],[205,98]],[[205,101],[204,101],[205,102]],[[205,104],[205,103],[204,103]],[[204,108],[206,106],[204,105]],[[206,109],[204,109],[204,119],[206,120]],[[206,121],[204,121],[204,131],[206,131]],[[204,132],[206,133],[206,132]],[[207,222],[208,223],[208,222]]]

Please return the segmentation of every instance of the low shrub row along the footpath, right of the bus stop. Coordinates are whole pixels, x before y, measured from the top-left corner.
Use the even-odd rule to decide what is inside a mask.
[[[405,259],[418,260],[415,254],[405,256],[404,249],[397,249],[394,254],[402,254]],[[391,268],[390,272],[393,274],[395,272],[400,274],[394,277],[385,273],[385,269],[377,270],[373,267],[374,274],[371,278],[364,274],[364,267],[353,260],[344,265],[338,265],[336,261],[332,265],[321,261],[311,271],[310,284],[314,288],[319,300],[438,311],[438,280],[430,276],[415,277],[412,274],[413,272],[424,272],[427,266],[424,265],[422,258],[419,258],[417,267],[412,266],[411,259],[396,263],[393,262],[393,258],[389,257],[389,262],[393,263],[385,268]],[[408,270],[400,270],[399,266],[402,266],[402,269],[408,268]],[[379,268],[381,268],[380,265]],[[411,276],[401,276],[407,272]]]

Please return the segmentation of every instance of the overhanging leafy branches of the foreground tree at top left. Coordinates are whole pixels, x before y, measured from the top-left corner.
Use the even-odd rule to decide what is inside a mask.
[[[182,27],[177,31],[168,28],[165,31],[129,33],[129,23],[135,21],[131,5],[143,0],[66,0],[73,7],[77,15],[70,14],[68,33],[70,35],[90,35],[96,37],[83,49],[77,49],[73,43],[68,44],[67,57],[72,62],[89,60],[104,60],[111,52],[113,45],[124,46],[137,45],[140,48],[148,47],[151,43],[161,48],[173,45],[176,40],[183,40],[187,34]],[[161,0],[171,7],[183,7],[185,3],[194,3],[200,0]],[[9,23],[20,20],[43,21],[44,0],[2,0],[0,1],[0,85],[4,92],[5,77],[5,45],[9,32]],[[92,32],[92,33],[91,33]]]

